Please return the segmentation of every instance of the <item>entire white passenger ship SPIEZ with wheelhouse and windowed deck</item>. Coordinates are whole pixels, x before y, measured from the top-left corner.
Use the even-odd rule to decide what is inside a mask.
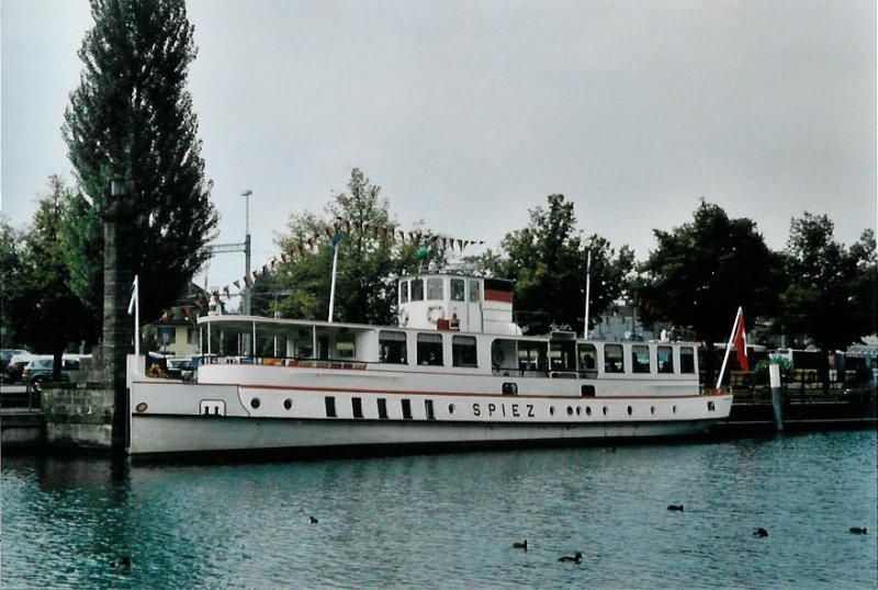
[[[607,443],[729,417],[731,395],[699,392],[695,343],[524,336],[498,279],[398,287],[397,326],[200,318],[196,382],[130,378],[130,453]]]

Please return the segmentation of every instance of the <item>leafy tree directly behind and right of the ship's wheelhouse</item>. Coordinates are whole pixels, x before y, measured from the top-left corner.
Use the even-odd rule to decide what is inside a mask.
[[[548,207],[530,212],[530,224],[506,235],[500,251],[486,252],[481,266],[515,281],[518,322],[531,333],[576,329],[585,315],[587,251],[592,252],[590,315],[597,318],[626,292],[634,254],[594,235],[583,240],[573,203],[564,195],[547,197]],[[592,324],[592,322],[589,322]]]

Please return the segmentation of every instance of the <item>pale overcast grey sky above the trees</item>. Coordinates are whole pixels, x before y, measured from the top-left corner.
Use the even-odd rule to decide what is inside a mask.
[[[495,247],[563,193],[644,259],[700,196],[783,248],[792,216],[876,225],[875,0],[189,0],[189,90],[221,242],[254,266],[351,168],[403,226]],[[2,211],[72,182],[60,126],[86,0],[2,0]],[[479,250],[470,250],[476,253]],[[243,275],[222,254],[211,285]]]

